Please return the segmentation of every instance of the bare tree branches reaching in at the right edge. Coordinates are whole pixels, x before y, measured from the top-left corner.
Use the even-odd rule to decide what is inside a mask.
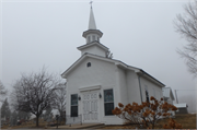
[[[185,14],[177,14],[174,26],[189,44],[183,50],[177,50],[182,58],[186,60],[188,71],[197,76],[197,0],[194,3],[184,5]]]

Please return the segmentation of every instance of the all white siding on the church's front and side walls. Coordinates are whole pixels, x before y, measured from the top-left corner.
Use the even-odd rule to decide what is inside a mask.
[[[91,62],[91,67],[86,67],[86,63]],[[148,86],[149,97],[155,95],[162,97],[162,90],[154,83],[140,78],[142,101],[146,101],[144,86]],[[67,115],[70,115],[70,95],[78,94],[81,96],[79,87],[96,86],[101,88],[96,90],[102,94],[102,98],[99,98],[99,120],[105,125],[121,125],[124,120],[116,116],[105,116],[104,113],[104,90],[113,88],[114,92],[114,107],[118,106],[118,103],[124,105],[132,104],[134,102],[141,104],[140,87],[138,75],[135,71],[124,70],[116,67],[113,62],[106,62],[103,60],[86,58],[79,63],[67,76]],[[82,101],[79,101],[79,115],[82,114]]]

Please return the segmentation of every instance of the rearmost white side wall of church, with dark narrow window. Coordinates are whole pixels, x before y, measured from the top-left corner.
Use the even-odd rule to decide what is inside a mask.
[[[154,96],[157,99],[163,98],[162,87],[150,82],[149,80],[140,76],[141,81],[141,92],[142,92],[142,101],[146,102],[146,86],[148,87],[149,98]]]

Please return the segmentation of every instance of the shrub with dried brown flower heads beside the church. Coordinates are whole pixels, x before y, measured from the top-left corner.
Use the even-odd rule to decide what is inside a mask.
[[[132,103],[124,106],[118,104],[113,110],[113,114],[125,120],[127,125],[136,125],[138,128],[154,129],[159,119],[171,117],[170,110],[177,110],[177,108],[161,98],[158,101],[153,96],[150,102],[142,102],[141,105]]]

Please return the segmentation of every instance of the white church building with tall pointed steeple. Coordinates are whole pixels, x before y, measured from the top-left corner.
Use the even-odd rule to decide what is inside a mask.
[[[142,69],[108,58],[109,49],[100,43],[103,33],[96,28],[91,8],[85,44],[78,47],[81,57],[61,76],[67,80],[67,115],[82,123],[123,125],[112,114],[118,103],[141,104],[154,96],[163,97],[165,85]]]

